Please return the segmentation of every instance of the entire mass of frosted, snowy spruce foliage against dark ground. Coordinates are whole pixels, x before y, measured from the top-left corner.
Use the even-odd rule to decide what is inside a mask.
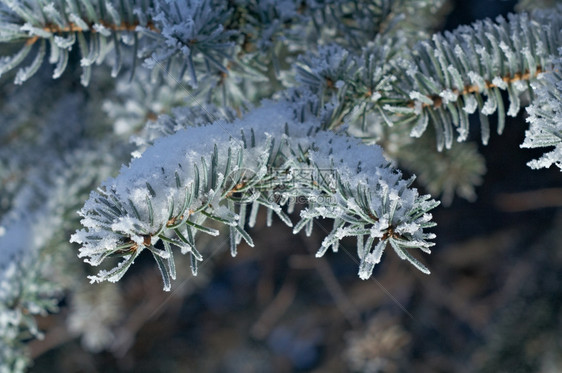
[[[471,114],[487,144],[488,117],[497,114],[501,134],[506,106],[516,116],[528,100],[522,146],[555,147],[529,166],[562,169],[562,8],[433,34],[444,9],[0,0],[0,78],[18,85],[1,92],[0,372],[26,369],[24,341],[40,336],[33,315],[55,312],[76,278],[116,282],[147,249],[169,291],[175,252],[197,274],[197,233],[228,232],[234,256],[242,241],[253,246],[260,210],[294,234],[331,219],[316,256],[353,237],[362,279],[387,247],[429,274],[412,252],[430,253],[439,202],[399,168],[445,204],[474,199],[485,165],[466,142]],[[60,97],[50,86],[63,74],[72,93]],[[55,105],[43,100],[51,95]],[[71,234],[74,252],[104,269],[92,275],[69,259]],[[70,319],[103,348],[107,338]]]

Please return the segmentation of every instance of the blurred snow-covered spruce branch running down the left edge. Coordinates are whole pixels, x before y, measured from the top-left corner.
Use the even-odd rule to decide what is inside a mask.
[[[84,148],[63,160],[44,153],[49,167],[29,173],[0,220],[0,372],[24,371],[25,341],[42,336],[34,317],[57,309],[62,290],[57,280],[64,275],[56,268],[69,251],[57,251],[53,242],[96,180],[88,170],[103,174],[103,167],[93,167],[103,153]]]

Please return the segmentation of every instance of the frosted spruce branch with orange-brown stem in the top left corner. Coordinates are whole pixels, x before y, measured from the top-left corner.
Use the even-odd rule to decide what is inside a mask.
[[[0,3],[0,41],[21,41],[19,51],[4,57],[0,74],[16,68],[36,50],[32,63],[20,68],[21,84],[39,69],[50,47],[49,62],[56,64],[53,77],[62,75],[69,53],[78,44],[83,68],[82,84],[90,80],[91,66],[102,63],[113,52],[112,75],[125,64],[125,49],[131,55],[128,66],[134,73],[137,58],[149,67],[172,63],[189,71],[196,85],[194,63],[199,72],[210,65],[227,72],[223,60],[232,59],[235,30],[226,30],[231,12],[218,1],[92,1],[3,0]],[[144,37],[143,37],[144,36]],[[123,49],[123,50],[122,50]],[[178,58],[179,57],[179,58]],[[195,62],[194,62],[195,61]],[[179,77],[181,79],[181,76]]]

